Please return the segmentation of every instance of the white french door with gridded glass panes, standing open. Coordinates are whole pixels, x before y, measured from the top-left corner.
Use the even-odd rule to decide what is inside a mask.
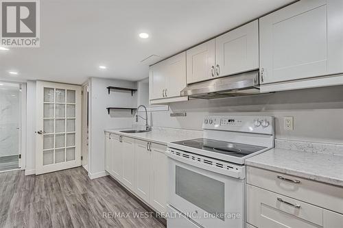
[[[37,81],[36,175],[81,166],[81,87]]]

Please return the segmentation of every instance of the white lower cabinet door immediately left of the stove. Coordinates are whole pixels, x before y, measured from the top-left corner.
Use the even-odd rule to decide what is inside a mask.
[[[150,205],[164,213],[167,211],[167,147],[152,143],[150,148]]]

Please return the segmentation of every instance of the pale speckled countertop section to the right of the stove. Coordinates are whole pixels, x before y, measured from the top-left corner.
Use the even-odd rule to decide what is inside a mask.
[[[309,142],[306,143],[309,144]],[[337,153],[316,153],[314,151],[316,151],[317,146],[311,147],[310,151],[285,148],[270,149],[248,158],[246,165],[343,187],[343,154],[340,151]],[[343,145],[333,144],[329,147],[338,149]],[[320,148],[322,149],[323,146]]]

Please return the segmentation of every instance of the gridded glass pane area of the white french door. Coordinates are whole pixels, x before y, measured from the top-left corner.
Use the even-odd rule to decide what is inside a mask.
[[[44,87],[43,166],[75,160],[75,90]]]

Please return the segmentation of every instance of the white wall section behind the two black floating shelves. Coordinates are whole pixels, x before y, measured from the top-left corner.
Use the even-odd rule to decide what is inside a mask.
[[[137,93],[113,91],[108,94],[107,86],[136,88],[134,81],[102,79],[89,80],[89,164],[91,178],[105,174],[104,129],[132,127],[133,115],[130,110],[113,110],[108,115],[106,107],[137,107]]]

